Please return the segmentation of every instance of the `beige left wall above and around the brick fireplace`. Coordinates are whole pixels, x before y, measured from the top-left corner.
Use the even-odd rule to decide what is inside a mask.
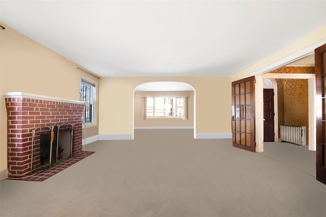
[[[4,23],[0,30],[1,43],[1,114],[0,114],[0,171],[7,168],[7,113],[5,92],[79,100],[79,76],[90,77],[77,65]],[[97,78],[92,79],[98,80]],[[97,135],[98,127],[90,127],[87,136]],[[3,174],[3,173],[1,173]],[[3,177],[0,177],[1,179]]]

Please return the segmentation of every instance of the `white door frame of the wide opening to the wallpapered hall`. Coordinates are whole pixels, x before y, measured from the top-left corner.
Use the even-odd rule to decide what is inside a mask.
[[[264,132],[262,130],[264,125],[263,125],[263,114],[261,112],[262,103],[263,103],[263,100],[262,100],[262,97],[263,97],[263,75],[268,72],[279,69],[281,67],[287,66],[296,60],[305,58],[310,55],[314,55],[315,48],[320,47],[321,45],[323,45],[325,43],[326,43],[326,39],[322,39],[322,40],[320,40],[314,44],[311,44],[301,50],[293,52],[292,54],[285,56],[285,57],[275,61],[274,63],[271,63],[265,67],[262,67],[252,73],[252,75],[254,75],[256,78],[256,88],[255,88],[255,100],[256,100],[256,104],[255,104],[255,106],[256,106],[256,109],[255,109],[255,111],[256,111],[256,115],[255,115],[256,116],[256,134],[255,135],[256,135],[256,145],[257,145],[256,152],[264,151]],[[281,74],[278,74],[278,75],[281,75]],[[295,75],[295,74],[292,74],[292,76],[293,75]],[[306,74],[306,75],[308,75],[308,74]],[[312,75],[314,75],[314,74],[312,74]],[[315,84],[315,81],[312,81],[311,78],[307,78],[307,79],[309,79],[308,85],[309,85],[309,83],[312,83],[310,85]],[[315,89],[314,89],[313,93],[314,93],[313,95],[315,96],[316,95]],[[310,103],[310,101],[312,101],[314,103],[314,99],[309,99],[309,103]],[[313,110],[314,110],[314,108],[313,108]],[[312,114],[310,114],[312,121],[316,122],[316,116],[315,116],[316,112],[311,111],[311,110],[310,110],[310,112],[312,113]],[[313,115],[313,113],[314,113],[314,115]],[[310,121],[310,122],[312,122],[312,121]],[[312,128],[309,131],[310,131],[309,137],[310,137],[310,135],[312,136],[312,137],[310,137],[310,141],[314,141],[312,146],[311,146],[311,144],[309,145],[309,150],[316,150],[316,125],[312,126]],[[312,138],[315,138],[315,139],[312,140]]]

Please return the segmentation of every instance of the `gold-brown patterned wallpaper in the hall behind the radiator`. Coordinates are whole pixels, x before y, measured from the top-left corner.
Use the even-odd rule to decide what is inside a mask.
[[[315,67],[283,67],[270,73],[314,74]],[[308,132],[308,80],[275,80],[278,86],[279,137],[280,125],[305,126]]]

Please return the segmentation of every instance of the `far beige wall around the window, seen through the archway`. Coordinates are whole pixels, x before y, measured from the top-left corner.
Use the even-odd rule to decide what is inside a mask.
[[[187,119],[183,118],[146,118],[143,117],[144,96],[185,96],[188,99]],[[174,92],[134,92],[134,127],[194,127],[194,91]]]

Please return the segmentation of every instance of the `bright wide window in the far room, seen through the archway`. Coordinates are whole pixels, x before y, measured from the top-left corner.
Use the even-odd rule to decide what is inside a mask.
[[[147,97],[147,117],[184,116],[184,97]]]

